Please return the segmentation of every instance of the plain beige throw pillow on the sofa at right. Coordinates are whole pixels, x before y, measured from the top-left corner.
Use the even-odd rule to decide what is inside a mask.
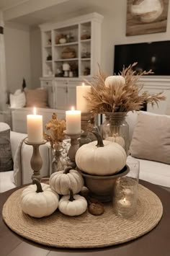
[[[131,156],[170,164],[170,116],[139,112]]]

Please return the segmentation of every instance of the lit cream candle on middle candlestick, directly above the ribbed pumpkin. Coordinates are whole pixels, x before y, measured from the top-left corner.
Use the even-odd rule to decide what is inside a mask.
[[[66,133],[81,132],[81,111],[71,110],[66,111]]]

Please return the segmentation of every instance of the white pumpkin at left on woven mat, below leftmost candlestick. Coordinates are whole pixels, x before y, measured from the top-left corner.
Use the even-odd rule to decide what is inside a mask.
[[[35,179],[32,183],[35,185],[29,185],[22,191],[22,211],[35,218],[52,214],[58,208],[59,195],[48,184]]]

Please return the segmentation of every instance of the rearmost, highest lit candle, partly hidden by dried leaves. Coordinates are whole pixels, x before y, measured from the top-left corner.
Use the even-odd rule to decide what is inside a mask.
[[[85,85],[76,87],[76,109],[81,110],[81,112],[89,112],[88,102],[86,96],[91,91],[90,85]]]

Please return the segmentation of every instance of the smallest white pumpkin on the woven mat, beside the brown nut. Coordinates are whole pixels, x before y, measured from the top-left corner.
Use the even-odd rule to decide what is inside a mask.
[[[81,215],[86,208],[86,199],[81,195],[73,195],[73,190],[70,190],[70,195],[63,195],[58,205],[59,211],[68,216]]]

